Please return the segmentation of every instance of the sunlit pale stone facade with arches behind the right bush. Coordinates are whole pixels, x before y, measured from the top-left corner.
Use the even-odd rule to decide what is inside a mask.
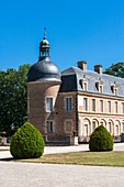
[[[124,132],[124,98],[90,94],[80,94],[78,98],[78,136],[80,141],[88,141],[91,133],[100,124],[104,125],[115,140],[120,139],[121,133]],[[83,99],[87,99],[87,109],[82,105]],[[95,111],[92,111],[92,99],[95,100]],[[111,103],[111,110],[109,110],[109,103]]]

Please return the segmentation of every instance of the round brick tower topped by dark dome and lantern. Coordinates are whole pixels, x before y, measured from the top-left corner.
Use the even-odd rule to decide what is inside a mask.
[[[54,131],[56,100],[60,87],[60,70],[50,62],[49,42],[40,43],[38,62],[27,73],[27,119],[44,136]]]

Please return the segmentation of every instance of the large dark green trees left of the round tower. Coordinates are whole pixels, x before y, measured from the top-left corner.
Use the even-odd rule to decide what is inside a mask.
[[[18,70],[0,70],[0,131],[10,132],[26,120],[26,74],[29,64]]]

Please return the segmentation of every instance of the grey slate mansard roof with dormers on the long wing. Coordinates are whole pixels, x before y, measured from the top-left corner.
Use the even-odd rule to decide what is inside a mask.
[[[82,70],[78,67],[70,67],[61,73],[61,86],[60,92],[67,91],[83,91],[81,88],[80,79],[83,77],[88,80],[88,91],[93,94],[100,94],[97,89],[95,82],[103,81],[102,95],[115,96],[112,92],[111,86],[116,82],[117,85],[117,97],[124,97],[124,79],[114,77],[106,74],[98,74],[93,70]]]

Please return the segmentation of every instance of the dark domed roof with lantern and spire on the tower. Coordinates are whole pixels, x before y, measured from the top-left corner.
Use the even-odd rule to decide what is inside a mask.
[[[31,66],[27,73],[27,82],[30,81],[60,81],[59,68],[50,62],[49,43],[46,40],[46,29],[44,29],[44,37],[40,43],[38,62]]]

